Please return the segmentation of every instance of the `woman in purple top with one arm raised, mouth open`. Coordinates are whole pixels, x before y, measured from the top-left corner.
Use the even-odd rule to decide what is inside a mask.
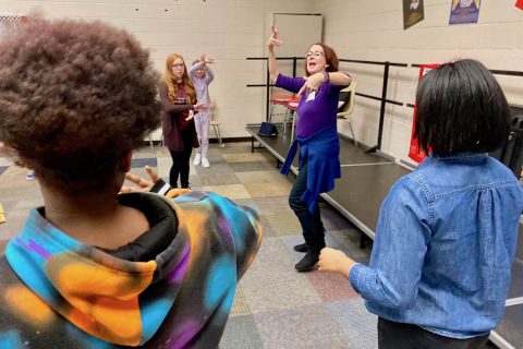
[[[318,197],[335,186],[340,177],[340,145],[337,132],[339,92],[351,83],[351,77],[338,72],[338,57],[325,44],[315,44],[306,53],[305,77],[280,74],[275,56],[275,46],[280,46],[278,29],[271,28],[269,38],[269,73],[278,87],[297,93],[300,119],[296,124],[296,140],[282,167],[289,171],[300,145],[300,173],[289,195],[289,205],[303,229],[305,243],[294,246],[306,252],[295,265],[296,270],[307,272],[318,262],[319,251],[325,248],[325,228],[321,222]]]

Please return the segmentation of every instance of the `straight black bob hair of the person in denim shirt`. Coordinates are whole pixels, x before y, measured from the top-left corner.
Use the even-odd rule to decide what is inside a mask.
[[[494,152],[510,132],[510,108],[494,75],[472,59],[428,72],[416,93],[414,135],[437,157]]]

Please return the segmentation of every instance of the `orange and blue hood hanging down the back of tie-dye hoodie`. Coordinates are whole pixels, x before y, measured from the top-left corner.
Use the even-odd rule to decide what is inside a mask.
[[[76,327],[104,341],[137,346],[156,333],[175,300],[191,253],[186,236],[181,224],[157,258],[127,262],[72,239],[33,209],[5,256],[24,284]],[[141,302],[160,276],[168,278],[169,292]]]

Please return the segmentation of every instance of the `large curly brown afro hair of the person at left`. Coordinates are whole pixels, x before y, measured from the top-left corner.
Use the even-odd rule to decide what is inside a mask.
[[[102,181],[159,127],[158,80],[122,29],[34,19],[0,40],[0,142],[53,183]]]

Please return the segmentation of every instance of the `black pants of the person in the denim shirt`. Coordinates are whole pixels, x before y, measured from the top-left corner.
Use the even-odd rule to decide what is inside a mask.
[[[419,326],[378,318],[379,349],[479,349],[488,335],[467,339],[439,336]]]

